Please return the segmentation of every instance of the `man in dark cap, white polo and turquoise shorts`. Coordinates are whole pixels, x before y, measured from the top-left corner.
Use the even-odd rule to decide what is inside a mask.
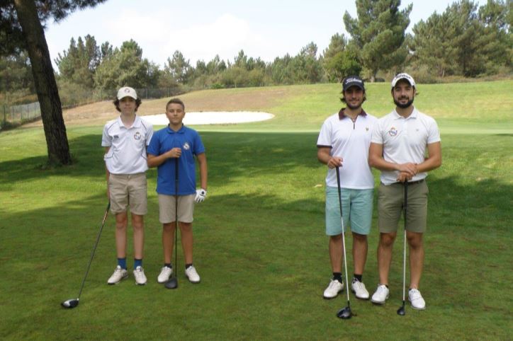
[[[351,291],[358,299],[368,299],[369,294],[362,280],[367,260],[367,235],[371,231],[374,190],[374,178],[368,166],[368,146],[377,119],[361,108],[366,96],[363,80],[359,76],[349,76],[342,81],[341,100],[346,108],[325,120],[317,139],[317,158],[328,167],[326,234],[329,236],[329,259],[333,271],[323,296],[332,299],[344,289],[341,272],[343,231],[335,171],[338,167],[344,227],[350,225],[353,234],[354,276]]]

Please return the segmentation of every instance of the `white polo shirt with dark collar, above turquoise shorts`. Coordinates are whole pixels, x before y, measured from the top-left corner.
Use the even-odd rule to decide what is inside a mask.
[[[371,144],[373,125],[377,118],[362,111],[353,122],[351,117],[339,113],[329,116],[322,124],[317,148],[331,147],[329,155],[342,158],[340,185],[353,190],[374,188],[371,167],[368,166],[368,147]],[[329,169],[326,185],[337,187],[337,171]]]

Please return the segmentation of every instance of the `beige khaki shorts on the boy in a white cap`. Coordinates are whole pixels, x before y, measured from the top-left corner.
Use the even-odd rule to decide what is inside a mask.
[[[108,190],[111,192],[111,212],[130,212],[144,216],[148,212],[146,174],[111,174]]]

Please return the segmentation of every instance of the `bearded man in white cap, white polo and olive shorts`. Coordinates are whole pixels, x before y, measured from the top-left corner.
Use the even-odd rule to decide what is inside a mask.
[[[408,182],[407,243],[410,247],[410,290],[412,308],[423,310],[426,303],[419,291],[424,264],[422,236],[426,231],[427,172],[441,166],[440,133],[435,120],[413,106],[415,80],[398,74],[392,81],[395,110],[374,125],[368,162],[381,171],[378,195],[379,284],[371,301],[385,304],[388,299],[388,272],[398,222],[404,206],[404,183]],[[427,157],[424,157],[426,155]]]

